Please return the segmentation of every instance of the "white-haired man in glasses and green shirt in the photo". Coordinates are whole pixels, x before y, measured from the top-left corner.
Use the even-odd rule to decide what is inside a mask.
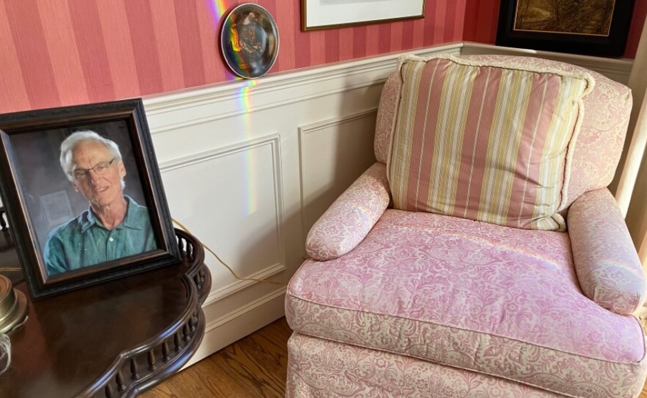
[[[126,169],[114,141],[75,132],[61,143],[61,167],[89,208],[47,236],[48,275],[157,248],[147,208],[123,193]]]

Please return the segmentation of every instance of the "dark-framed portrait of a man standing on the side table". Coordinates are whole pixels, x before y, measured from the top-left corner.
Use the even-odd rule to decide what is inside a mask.
[[[1,114],[0,196],[32,300],[180,262],[140,98]]]

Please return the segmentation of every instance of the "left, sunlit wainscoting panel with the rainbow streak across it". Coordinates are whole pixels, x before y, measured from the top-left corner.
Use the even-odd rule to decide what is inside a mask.
[[[285,270],[280,159],[275,134],[160,163],[173,218],[240,277],[262,279]],[[236,280],[213,262],[207,265],[219,283],[206,305],[253,283]]]

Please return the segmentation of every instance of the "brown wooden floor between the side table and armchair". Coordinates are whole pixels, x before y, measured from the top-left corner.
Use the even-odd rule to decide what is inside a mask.
[[[182,370],[140,397],[283,398],[290,334],[285,318],[281,318]],[[647,384],[638,398],[647,398]]]

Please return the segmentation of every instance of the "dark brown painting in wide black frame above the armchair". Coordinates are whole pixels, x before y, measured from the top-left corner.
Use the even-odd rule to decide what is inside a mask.
[[[634,0],[501,0],[496,45],[620,57]]]

